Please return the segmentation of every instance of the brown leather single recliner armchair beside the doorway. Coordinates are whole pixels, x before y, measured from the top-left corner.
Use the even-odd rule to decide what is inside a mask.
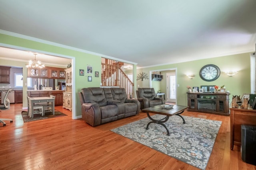
[[[138,88],[136,94],[140,102],[140,109],[165,104],[163,98],[156,97],[154,88]]]

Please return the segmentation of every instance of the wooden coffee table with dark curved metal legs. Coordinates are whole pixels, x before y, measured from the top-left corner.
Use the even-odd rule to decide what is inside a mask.
[[[160,125],[164,126],[164,128],[167,131],[167,135],[170,136],[170,131],[166,127],[166,125],[164,125],[164,122],[168,121],[170,116],[178,115],[182,118],[183,123],[186,123],[185,119],[180,114],[183,113],[184,110],[187,109],[187,108],[188,108],[188,106],[174,105],[172,108],[166,109],[166,108],[163,108],[162,105],[158,105],[158,106],[153,106],[153,107],[148,107],[148,108],[142,109],[143,112],[147,113],[148,118],[150,120],[152,120],[148,123],[146,129],[149,129],[148,126],[151,123],[157,123],[157,124],[160,124]],[[156,120],[156,119],[153,119],[152,117],[150,117],[149,113],[156,113],[156,114],[159,114],[159,115],[166,115],[166,117],[164,117],[163,119],[160,119],[160,120]]]

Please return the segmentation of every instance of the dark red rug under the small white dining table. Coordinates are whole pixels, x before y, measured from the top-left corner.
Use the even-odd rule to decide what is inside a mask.
[[[42,116],[40,114],[34,114],[34,118],[30,118],[28,116],[27,111],[22,111],[21,115],[22,115],[22,119],[23,119],[24,122],[36,121],[36,120],[42,120],[42,119],[49,119],[49,118],[61,117],[61,116],[67,116],[66,114],[64,114],[60,111],[57,111],[57,110],[55,110],[54,115],[52,115],[52,112],[44,113],[44,116]]]

